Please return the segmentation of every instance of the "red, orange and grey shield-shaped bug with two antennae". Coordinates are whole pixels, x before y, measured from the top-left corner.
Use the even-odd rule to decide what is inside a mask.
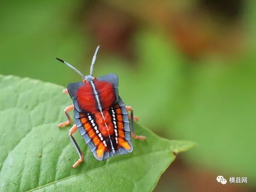
[[[133,150],[131,136],[145,140],[145,136],[135,135],[133,110],[125,106],[118,94],[118,77],[114,73],[98,78],[93,77],[93,65],[99,51],[96,48],[91,62],[90,75],[84,76],[69,63],[56,58],[68,67],[74,69],[82,81],[69,83],[63,93],[69,94],[73,104],[64,109],[67,121],[59,123],[63,127],[71,123],[68,111],[74,110],[75,124],[69,129],[69,137],[78,152],[79,159],[72,168],[83,161],[84,155],[72,136],[77,130],[84,138],[89,149],[97,160],[106,160],[114,155],[131,153]],[[130,114],[128,114],[128,111]]]

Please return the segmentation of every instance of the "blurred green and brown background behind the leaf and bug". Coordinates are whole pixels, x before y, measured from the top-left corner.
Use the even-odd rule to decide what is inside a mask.
[[[256,191],[256,1],[1,2],[2,74],[66,86],[55,57],[89,74],[97,45],[94,76],[117,73],[141,124],[198,143],[155,191]]]

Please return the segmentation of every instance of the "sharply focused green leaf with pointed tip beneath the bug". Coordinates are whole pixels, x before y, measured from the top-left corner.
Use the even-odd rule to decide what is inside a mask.
[[[0,76],[0,89],[1,191],[152,191],[174,153],[195,145],[160,138],[136,123],[136,132],[147,140],[133,140],[131,154],[100,162],[76,132],[85,158],[72,169],[78,155],[69,141],[70,126],[56,126],[71,103],[63,87]]]

